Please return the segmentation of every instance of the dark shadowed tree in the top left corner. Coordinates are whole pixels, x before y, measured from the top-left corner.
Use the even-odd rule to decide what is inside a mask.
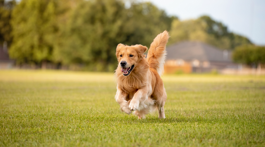
[[[0,0],[0,44],[7,42],[8,47],[12,42],[12,27],[10,24],[11,12],[16,5],[16,1]]]

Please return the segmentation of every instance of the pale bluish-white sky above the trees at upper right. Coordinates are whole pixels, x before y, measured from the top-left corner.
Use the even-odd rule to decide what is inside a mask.
[[[180,20],[209,15],[229,31],[265,45],[265,0],[138,0],[152,2]]]

